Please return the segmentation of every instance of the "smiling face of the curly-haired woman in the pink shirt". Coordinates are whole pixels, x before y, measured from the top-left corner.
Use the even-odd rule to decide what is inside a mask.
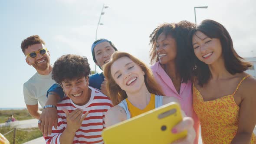
[[[161,64],[174,61],[177,56],[177,44],[171,35],[161,33],[156,43],[156,53]]]

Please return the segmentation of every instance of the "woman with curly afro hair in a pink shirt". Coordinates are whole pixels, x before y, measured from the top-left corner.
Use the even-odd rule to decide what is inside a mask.
[[[187,36],[195,25],[188,21],[164,23],[150,35],[150,59],[154,78],[161,86],[164,95],[174,96],[180,101],[182,110],[194,119],[194,129],[198,143],[199,120],[192,107],[192,70]]]

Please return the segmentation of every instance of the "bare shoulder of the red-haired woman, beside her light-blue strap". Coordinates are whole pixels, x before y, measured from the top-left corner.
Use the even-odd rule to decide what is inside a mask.
[[[124,121],[126,120],[126,118],[127,116],[126,116],[125,110],[120,106],[116,105],[110,108],[105,115],[106,127],[109,127],[121,121]]]

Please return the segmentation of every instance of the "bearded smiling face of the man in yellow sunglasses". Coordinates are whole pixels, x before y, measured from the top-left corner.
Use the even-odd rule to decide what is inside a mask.
[[[45,55],[41,55],[38,50],[43,49],[45,46],[41,43],[34,44],[31,46],[28,46],[27,49],[25,49],[24,54],[25,56],[30,54],[31,52],[37,52],[37,55],[35,58],[31,58],[28,56],[26,58],[26,62],[28,65],[32,65],[36,70],[44,71],[49,68],[50,65],[50,53],[49,51],[46,52]]]

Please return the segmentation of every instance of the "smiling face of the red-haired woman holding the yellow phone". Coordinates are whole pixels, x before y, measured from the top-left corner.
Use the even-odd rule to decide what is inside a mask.
[[[116,84],[126,93],[138,92],[145,85],[145,73],[139,65],[126,56],[112,64],[111,75]]]

